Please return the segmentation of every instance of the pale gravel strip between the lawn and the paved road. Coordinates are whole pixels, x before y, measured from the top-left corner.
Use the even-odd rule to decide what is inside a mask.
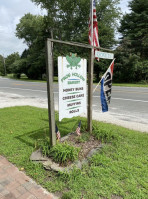
[[[0,108],[26,105],[40,108],[48,108],[46,99],[36,97],[24,97],[22,95],[0,92]],[[58,104],[55,104],[55,110],[58,110]],[[81,116],[86,117],[86,115],[84,114]],[[95,120],[112,123],[129,129],[148,133],[147,122],[141,123],[138,120],[128,121],[128,117],[130,118],[130,116],[126,116],[126,118],[124,116],[121,116],[121,118],[117,118],[114,115],[111,115],[109,111],[106,113],[93,111],[93,119]]]

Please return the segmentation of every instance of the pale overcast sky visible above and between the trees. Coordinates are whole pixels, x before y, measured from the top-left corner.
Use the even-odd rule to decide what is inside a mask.
[[[128,12],[129,0],[121,0],[122,12]],[[27,46],[15,36],[16,24],[26,13],[44,15],[45,11],[31,0],[0,0],[0,54],[7,56],[13,52],[21,54]]]

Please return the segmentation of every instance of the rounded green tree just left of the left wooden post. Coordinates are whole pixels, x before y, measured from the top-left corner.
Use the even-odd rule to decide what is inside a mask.
[[[22,53],[22,61],[15,64],[17,69],[20,69],[22,64],[22,70],[20,71],[31,79],[42,78],[42,74],[45,73],[44,30],[43,17],[30,13],[23,16],[20,23],[17,24],[16,36],[24,39],[29,48]],[[18,70],[14,70],[14,72],[17,73]]]

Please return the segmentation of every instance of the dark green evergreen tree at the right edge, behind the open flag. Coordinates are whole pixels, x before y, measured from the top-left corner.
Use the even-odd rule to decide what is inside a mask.
[[[138,82],[147,80],[148,2],[132,0],[129,7],[131,13],[123,16],[119,28],[123,37],[116,49],[114,80]]]

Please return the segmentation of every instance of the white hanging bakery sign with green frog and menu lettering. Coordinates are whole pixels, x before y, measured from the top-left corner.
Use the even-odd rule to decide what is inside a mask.
[[[58,57],[59,121],[86,113],[86,59]]]

